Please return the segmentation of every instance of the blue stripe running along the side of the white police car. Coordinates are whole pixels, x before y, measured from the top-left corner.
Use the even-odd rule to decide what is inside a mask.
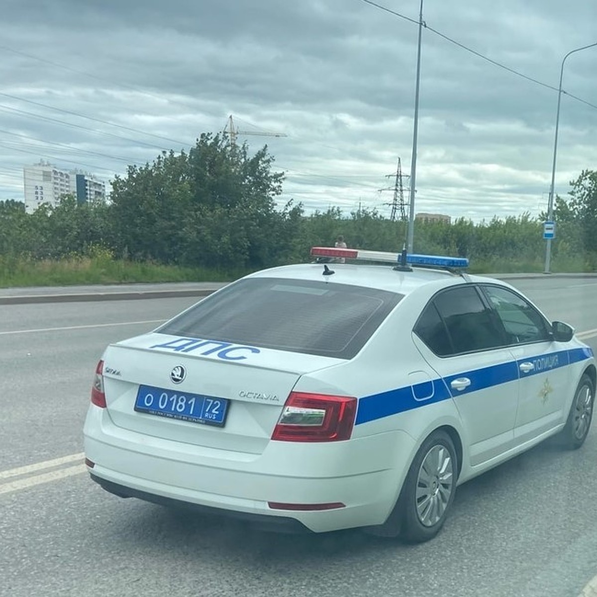
[[[509,361],[500,363],[499,365],[492,365],[491,367],[463,371],[463,373],[445,377],[445,380],[436,378],[413,386],[399,387],[387,392],[364,396],[359,399],[355,425],[368,423],[378,418],[389,417],[393,414],[404,413],[414,408],[447,400],[451,398],[447,384],[450,384],[459,377],[467,377],[471,382],[470,386],[458,392],[458,396],[461,396],[466,393],[483,390],[487,387],[515,381],[519,377],[528,377],[530,375],[545,373],[547,370],[565,367],[566,365],[589,359],[592,356],[593,351],[589,347],[558,350],[558,352],[551,352],[547,355],[518,359],[516,362]],[[526,362],[532,362],[535,368],[528,373],[519,374],[519,365]],[[417,396],[429,396],[430,384],[433,386],[430,397],[427,399],[417,398]]]

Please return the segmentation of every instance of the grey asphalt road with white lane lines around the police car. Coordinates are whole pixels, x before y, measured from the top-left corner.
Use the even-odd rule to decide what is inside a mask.
[[[597,350],[597,279],[510,280]],[[597,573],[597,431],[458,488],[435,540],[261,533],[102,491],[81,429],[103,347],[190,297],[0,306],[0,595],[576,597]],[[595,334],[595,335],[594,335]]]

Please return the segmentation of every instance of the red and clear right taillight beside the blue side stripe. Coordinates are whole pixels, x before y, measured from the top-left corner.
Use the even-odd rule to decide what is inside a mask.
[[[291,392],[273,430],[282,442],[336,442],[349,439],[355,424],[356,398]]]

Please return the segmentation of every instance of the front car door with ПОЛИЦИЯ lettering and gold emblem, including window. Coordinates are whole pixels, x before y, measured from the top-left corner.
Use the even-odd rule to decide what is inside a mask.
[[[515,440],[521,444],[564,420],[572,383],[568,352],[553,341],[550,324],[524,297],[495,285],[482,285],[482,290],[516,359],[520,384]]]

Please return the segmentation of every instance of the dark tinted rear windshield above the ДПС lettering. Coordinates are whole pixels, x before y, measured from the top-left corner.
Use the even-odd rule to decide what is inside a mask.
[[[250,278],[156,331],[350,359],[403,296],[344,284]]]

